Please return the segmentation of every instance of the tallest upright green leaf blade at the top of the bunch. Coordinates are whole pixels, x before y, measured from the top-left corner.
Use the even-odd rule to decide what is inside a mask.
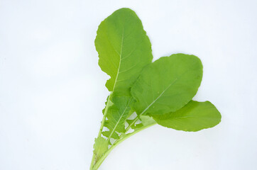
[[[117,96],[130,96],[132,84],[153,60],[151,42],[136,13],[121,8],[102,21],[95,46],[99,66],[111,77],[107,89]]]

